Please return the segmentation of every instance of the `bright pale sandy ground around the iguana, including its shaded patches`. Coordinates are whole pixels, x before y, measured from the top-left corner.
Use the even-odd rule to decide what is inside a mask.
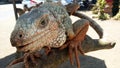
[[[17,5],[21,7],[21,5]],[[92,17],[91,12],[83,12]],[[71,17],[76,20],[75,17]],[[97,21],[104,29],[105,38],[116,41],[116,46],[109,50],[99,50],[86,53],[86,57],[81,57],[81,68],[119,68],[120,67],[120,21],[106,20]],[[13,59],[16,49],[10,44],[10,34],[15,25],[15,17],[12,5],[0,5],[0,68],[5,66]],[[92,28],[88,35],[98,38]],[[67,62],[69,63],[69,62]],[[64,67],[68,67],[63,64]],[[63,68],[63,67],[61,67]],[[72,67],[69,67],[72,68]]]

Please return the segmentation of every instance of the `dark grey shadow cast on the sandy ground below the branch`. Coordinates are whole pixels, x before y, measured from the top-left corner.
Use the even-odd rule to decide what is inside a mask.
[[[5,58],[0,59],[0,68],[5,68],[15,57],[15,53]],[[81,68],[107,68],[104,60],[92,57],[92,56],[80,56]],[[77,68],[74,64],[73,66],[69,61],[63,63],[59,68]]]

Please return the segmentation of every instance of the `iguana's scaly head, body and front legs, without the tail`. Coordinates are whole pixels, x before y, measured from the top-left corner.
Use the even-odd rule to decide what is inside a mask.
[[[81,22],[83,24],[80,24]],[[29,68],[28,56],[33,63],[36,63],[34,58],[38,56],[33,55],[33,53],[43,47],[61,47],[61,49],[68,47],[71,63],[73,64],[72,54],[74,53],[77,66],[80,68],[78,51],[81,54],[83,54],[83,51],[79,45],[84,40],[88,26],[89,22],[87,20],[78,20],[72,25],[64,6],[46,2],[19,17],[10,40],[17,51],[26,53],[24,56],[26,68]],[[20,62],[20,60],[17,61]],[[15,62],[10,65],[15,64]]]

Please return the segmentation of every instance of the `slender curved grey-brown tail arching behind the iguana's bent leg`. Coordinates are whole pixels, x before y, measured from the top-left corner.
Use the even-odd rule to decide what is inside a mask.
[[[103,37],[103,29],[93,19],[91,19],[90,17],[88,17],[78,11],[73,13],[72,15],[77,16],[79,18],[87,19],[88,21],[90,21],[90,26],[97,32],[97,34],[99,35],[100,38]]]

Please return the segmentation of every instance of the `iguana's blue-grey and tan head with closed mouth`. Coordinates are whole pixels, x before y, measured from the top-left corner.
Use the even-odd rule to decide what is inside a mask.
[[[16,22],[10,38],[18,51],[36,51],[44,46],[60,47],[66,41],[65,29],[47,9],[34,9]]]

